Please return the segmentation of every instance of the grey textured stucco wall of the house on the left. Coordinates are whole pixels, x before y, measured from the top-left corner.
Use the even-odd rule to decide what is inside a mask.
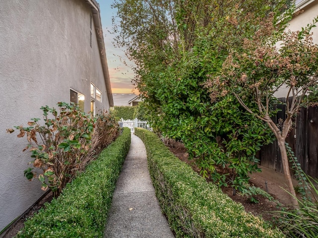
[[[6,133],[42,117],[43,105],[70,101],[70,88],[85,95],[90,110],[90,81],[102,91],[109,109],[91,8],[83,0],[0,0],[0,231],[43,193],[23,170],[31,158],[25,138]],[[87,79],[87,80],[82,80]]]

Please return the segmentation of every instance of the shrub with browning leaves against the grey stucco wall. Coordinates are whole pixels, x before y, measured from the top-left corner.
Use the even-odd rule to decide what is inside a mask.
[[[118,124],[101,112],[95,118],[81,112],[78,106],[59,102],[59,111],[41,107],[44,125],[39,118],[32,118],[29,127],[15,126],[17,137],[26,135],[28,145],[23,150],[31,152],[33,167],[41,168],[36,174],[32,168],[24,170],[27,179],[41,181],[42,190],[51,189],[57,197],[94,155],[118,136]],[[10,133],[14,130],[9,129]]]

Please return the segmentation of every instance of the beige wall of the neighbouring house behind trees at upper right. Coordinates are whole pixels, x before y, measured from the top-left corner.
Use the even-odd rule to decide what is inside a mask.
[[[302,10],[297,16],[289,22],[287,30],[298,31],[302,30],[302,27],[307,26],[313,22],[313,19],[318,16],[318,0],[296,0],[296,9]],[[318,25],[312,29],[313,32],[313,42],[318,44]],[[288,93],[288,88],[280,88],[274,95],[276,97],[286,97]]]

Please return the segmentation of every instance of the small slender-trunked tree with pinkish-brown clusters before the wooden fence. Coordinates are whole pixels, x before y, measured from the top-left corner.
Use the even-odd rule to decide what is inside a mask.
[[[318,88],[318,45],[313,43],[311,29],[318,21],[301,31],[287,31],[276,24],[273,15],[260,22],[251,39],[244,39],[240,51],[231,52],[217,76],[210,76],[205,87],[212,101],[228,93],[256,118],[266,122],[274,133],[280,149],[285,178],[293,205],[298,206],[289,171],[286,137],[292,118],[298,110],[311,103],[311,92]],[[271,119],[273,95],[287,87],[286,119],[281,125]],[[253,101],[257,108],[250,108]]]

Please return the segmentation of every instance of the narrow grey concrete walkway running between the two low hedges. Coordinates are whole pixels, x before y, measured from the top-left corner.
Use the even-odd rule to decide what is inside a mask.
[[[155,195],[145,145],[135,135],[116,184],[104,237],[174,238]]]

